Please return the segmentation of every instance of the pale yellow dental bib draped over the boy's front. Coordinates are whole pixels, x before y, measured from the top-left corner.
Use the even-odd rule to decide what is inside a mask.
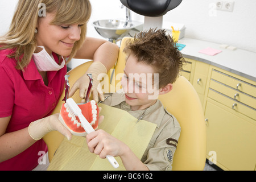
[[[105,130],[113,137],[127,144],[134,154],[141,159],[152,135],[156,124],[144,120],[138,121],[127,111],[108,105],[100,104],[100,115],[105,119],[99,129]],[[101,159],[98,155],[90,153],[84,137],[73,136],[71,141],[64,138],[56,151],[48,171],[110,171],[125,170],[121,158],[115,158],[119,167],[114,169],[107,159]]]

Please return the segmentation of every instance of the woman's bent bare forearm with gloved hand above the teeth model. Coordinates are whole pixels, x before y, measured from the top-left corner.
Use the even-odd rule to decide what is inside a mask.
[[[100,80],[98,80],[98,76],[101,73],[106,74],[114,67],[115,62],[118,59],[118,53],[119,47],[116,44],[103,39],[86,37],[84,44],[82,44],[82,47],[77,51],[74,58],[93,60],[94,63],[90,66],[86,74],[73,85],[69,91],[69,97],[72,97],[77,89],[80,89],[80,97],[85,97],[89,86],[89,77],[87,74],[91,73],[93,74],[93,100],[98,102],[98,96],[100,96],[100,99],[104,101],[101,86],[98,86],[102,76],[99,77]]]

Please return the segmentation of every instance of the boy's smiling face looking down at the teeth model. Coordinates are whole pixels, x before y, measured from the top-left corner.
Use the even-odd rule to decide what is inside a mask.
[[[132,110],[143,110],[154,105],[158,97],[158,74],[151,65],[138,63],[133,55],[127,59],[122,77],[125,101]]]

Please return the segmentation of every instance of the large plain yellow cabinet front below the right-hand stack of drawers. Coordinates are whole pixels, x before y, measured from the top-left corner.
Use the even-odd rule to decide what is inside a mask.
[[[256,126],[232,112],[217,102],[207,101],[207,154],[216,152],[217,166],[222,169],[254,170]]]

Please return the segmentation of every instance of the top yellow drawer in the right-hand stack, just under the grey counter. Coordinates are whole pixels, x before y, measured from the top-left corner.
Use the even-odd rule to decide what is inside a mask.
[[[234,89],[240,90],[241,92],[249,94],[250,96],[256,97],[256,86],[236,77],[226,75],[225,73],[213,69],[212,79],[222,82],[223,84],[228,85]]]

